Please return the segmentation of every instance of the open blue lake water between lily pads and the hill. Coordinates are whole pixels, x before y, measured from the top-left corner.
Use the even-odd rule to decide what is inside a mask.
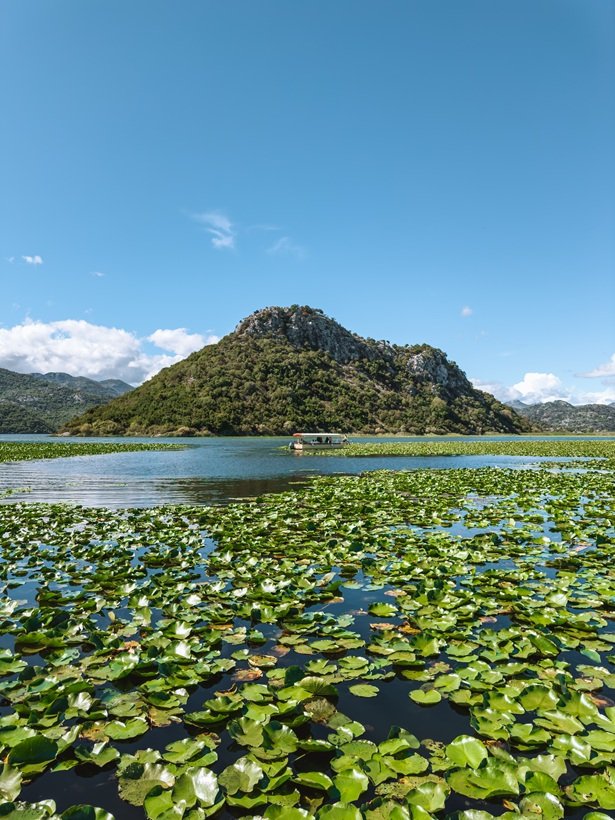
[[[515,437],[494,436],[506,441]],[[0,436],[0,441],[57,441],[51,436]],[[446,441],[446,438],[370,438],[353,441]],[[448,440],[458,441],[459,437]],[[79,439],[119,441],[126,439]],[[317,475],[358,474],[367,470],[521,467],[545,461],[528,456],[439,456],[335,458],[301,455],[286,449],[289,438],[223,437],[130,439],[186,445],[184,450],[118,453],[101,456],[0,464],[0,492],[28,490],[4,501],[75,502],[86,506],[147,507],[161,504],[224,503],[232,498],[288,489]],[[557,459],[561,461],[561,459]]]

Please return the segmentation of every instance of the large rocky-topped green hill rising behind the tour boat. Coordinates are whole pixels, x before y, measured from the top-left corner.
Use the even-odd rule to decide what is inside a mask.
[[[516,433],[530,423],[429,345],[363,339],[322,311],[257,311],[218,344],[66,426],[80,435]]]

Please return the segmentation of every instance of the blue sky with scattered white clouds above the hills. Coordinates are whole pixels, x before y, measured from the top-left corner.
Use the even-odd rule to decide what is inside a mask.
[[[614,32],[611,0],[0,0],[0,366],[137,382],[298,302],[615,400]]]

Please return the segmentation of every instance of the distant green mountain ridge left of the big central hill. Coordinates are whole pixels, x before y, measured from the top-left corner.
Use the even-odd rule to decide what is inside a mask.
[[[68,373],[15,373],[0,368],[0,433],[54,433],[74,416],[132,390]]]

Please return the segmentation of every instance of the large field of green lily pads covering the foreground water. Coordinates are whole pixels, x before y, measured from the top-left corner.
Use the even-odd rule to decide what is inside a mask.
[[[615,817],[615,442],[519,447],[0,505],[0,820]]]

